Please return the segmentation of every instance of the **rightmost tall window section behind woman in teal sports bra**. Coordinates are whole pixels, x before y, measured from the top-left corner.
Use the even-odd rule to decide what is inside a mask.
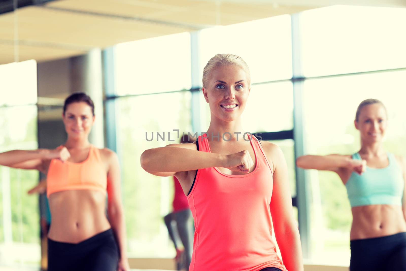
[[[357,152],[360,139],[354,127],[355,111],[367,98],[380,99],[387,107],[387,150],[406,154],[402,143],[406,139],[402,104],[406,38],[399,35],[404,31],[405,15],[405,9],[356,6],[300,14],[302,71],[306,77],[300,102],[308,154]],[[387,71],[371,73],[381,70]],[[369,73],[356,74],[359,72]],[[315,78],[318,76],[325,77]],[[329,171],[310,171],[309,177],[312,260],[348,265],[352,215],[346,188],[337,174]]]

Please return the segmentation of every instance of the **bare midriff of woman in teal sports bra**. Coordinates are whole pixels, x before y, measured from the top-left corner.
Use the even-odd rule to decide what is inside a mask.
[[[366,239],[406,232],[402,206],[366,205],[352,208],[350,239]]]

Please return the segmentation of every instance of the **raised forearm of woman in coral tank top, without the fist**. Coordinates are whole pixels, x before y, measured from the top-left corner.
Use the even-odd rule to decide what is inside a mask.
[[[141,155],[141,167],[147,172],[178,172],[207,167],[222,167],[225,155],[199,152],[181,147],[149,149]]]

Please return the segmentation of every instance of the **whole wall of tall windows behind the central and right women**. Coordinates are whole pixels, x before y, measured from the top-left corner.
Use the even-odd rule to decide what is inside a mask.
[[[391,152],[406,154],[406,147],[402,147],[406,139],[403,119],[406,112],[402,104],[406,98],[402,80],[406,76],[402,70],[406,68],[406,38],[399,34],[404,32],[405,15],[405,9],[334,6],[294,15],[293,21],[290,15],[283,15],[207,28],[198,33],[199,50],[190,50],[187,33],[116,46],[114,95],[134,96],[117,98],[116,110],[132,255],[173,256],[162,223],[162,215],[170,210],[171,181],[145,173],[138,159],[147,148],[171,143],[168,132],[174,138],[173,129],[180,132],[207,129],[210,110],[202,93],[195,99],[191,92],[183,90],[191,88],[191,73],[201,78],[201,74],[197,75],[198,65],[201,73],[215,54],[238,54],[250,67],[253,85],[242,125],[247,131],[265,133],[266,140],[281,147],[293,197],[296,196],[294,150],[296,146],[300,152],[301,146],[301,142],[292,139],[292,134],[297,137],[292,130],[300,130],[294,127],[293,100],[300,96],[296,95],[300,91],[302,98],[296,99],[295,104],[298,108],[303,106],[303,116],[296,117],[303,117],[307,153],[356,152],[359,148],[353,124],[356,106],[365,98],[378,98],[389,114],[384,144]],[[297,30],[300,38],[296,36]],[[292,44],[292,33],[293,40],[301,44]],[[297,59],[292,59],[292,49],[300,52],[294,55]],[[199,63],[191,63],[195,59]],[[388,71],[351,74],[385,69]],[[292,78],[293,70],[303,73]],[[298,92],[294,95],[294,91]],[[151,93],[161,94],[146,95]],[[191,131],[192,124],[202,131]],[[151,132],[155,133],[153,141],[145,139],[145,132],[148,138]],[[165,140],[156,141],[156,132],[165,132]],[[296,139],[301,140],[300,135]],[[334,173],[323,171],[310,171],[308,184],[310,255],[314,256],[311,260],[346,265],[352,217],[345,187]],[[298,208],[294,208],[295,215],[300,212]]]

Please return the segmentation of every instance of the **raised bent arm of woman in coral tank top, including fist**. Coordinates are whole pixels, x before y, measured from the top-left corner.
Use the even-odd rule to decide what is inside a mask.
[[[229,155],[200,152],[193,143],[170,144],[146,150],[141,155],[141,167],[156,176],[172,176],[180,171],[208,167],[249,172],[252,166],[253,161],[247,150]]]

